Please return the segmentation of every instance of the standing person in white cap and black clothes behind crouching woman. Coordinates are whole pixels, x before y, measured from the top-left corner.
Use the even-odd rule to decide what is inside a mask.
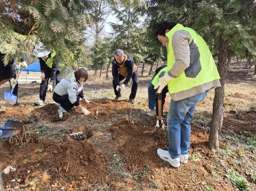
[[[53,57],[55,56],[54,51],[50,52],[46,50],[43,43],[40,42],[36,45],[33,53],[39,59],[42,79],[39,91],[40,100],[34,102],[34,104],[44,105],[47,90],[51,93],[53,92],[54,79],[56,78],[57,85],[62,77],[60,75],[60,68],[56,64],[53,64]]]

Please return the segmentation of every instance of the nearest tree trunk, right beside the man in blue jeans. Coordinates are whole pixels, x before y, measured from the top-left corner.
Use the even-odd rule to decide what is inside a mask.
[[[221,87],[215,89],[212,121],[210,123],[209,146],[215,153],[219,149],[219,133],[223,122],[223,102],[224,102],[224,86],[227,69],[229,67],[231,56],[227,62],[227,40],[220,35],[220,50],[218,58],[218,72],[220,74]]]

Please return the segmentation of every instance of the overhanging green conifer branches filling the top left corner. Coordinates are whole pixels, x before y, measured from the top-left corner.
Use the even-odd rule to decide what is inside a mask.
[[[142,4],[141,1],[112,1],[116,4]],[[83,32],[92,24],[89,0],[37,0],[0,2],[0,50],[3,61],[32,52],[38,42],[56,52],[55,62],[65,69],[77,67]]]

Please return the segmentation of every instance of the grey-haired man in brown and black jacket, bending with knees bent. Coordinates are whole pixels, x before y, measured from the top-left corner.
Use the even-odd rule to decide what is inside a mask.
[[[138,90],[139,84],[139,73],[137,66],[134,64],[134,61],[131,57],[124,54],[123,50],[116,49],[114,52],[114,60],[112,61],[112,76],[113,76],[113,88],[115,91],[116,98],[115,100],[120,99],[122,96],[120,91],[123,90],[127,84],[129,83],[130,79],[133,81],[132,91],[129,96],[129,102],[134,104],[135,103],[135,96]],[[119,82],[124,82],[120,86]]]

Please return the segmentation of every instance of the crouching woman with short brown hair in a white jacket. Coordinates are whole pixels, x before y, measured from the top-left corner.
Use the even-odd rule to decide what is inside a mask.
[[[72,77],[67,76],[62,79],[54,88],[53,100],[60,104],[59,109],[66,113],[76,106],[85,115],[89,115],[90,112],[79,104],[79,98],[89,103],[83,95],[82,83],[88,79],[88,73],[84,68],[79,68],[72,73]]]

